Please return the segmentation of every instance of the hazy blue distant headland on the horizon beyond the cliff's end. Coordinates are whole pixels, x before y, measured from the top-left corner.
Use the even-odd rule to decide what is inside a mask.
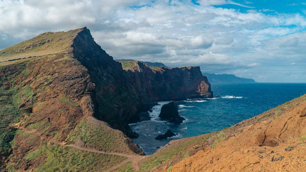
[[[210,83],[255,83],[256,81],[248,78],[237,77],[232,74],[215,74],[215,73],[202,73],[207,76]]]

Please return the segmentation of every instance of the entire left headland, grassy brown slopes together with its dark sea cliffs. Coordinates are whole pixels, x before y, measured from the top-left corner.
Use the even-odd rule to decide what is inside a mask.
[[[138,112],[213,96],[199,67],[123,69],[86,27],[40,34],[0,50],[0,60],[0,168],[8,171],[104,171],[141,159],[128,137]]]

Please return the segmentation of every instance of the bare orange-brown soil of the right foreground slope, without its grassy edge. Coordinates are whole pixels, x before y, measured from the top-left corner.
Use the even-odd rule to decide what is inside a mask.
[[[306,136],[304,98],[276,117],[231,127],[227,132],[236,132],[236,136],[216,143],[215,148],[205,147],[175,164],[171,171],[305,171],[306,140],[301,138]]]

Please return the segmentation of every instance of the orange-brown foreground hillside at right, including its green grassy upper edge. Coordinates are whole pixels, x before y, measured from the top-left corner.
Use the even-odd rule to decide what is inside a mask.
[[[305,122],[302,95],[219,132],[171,141],[140,171],[304,171]]]

